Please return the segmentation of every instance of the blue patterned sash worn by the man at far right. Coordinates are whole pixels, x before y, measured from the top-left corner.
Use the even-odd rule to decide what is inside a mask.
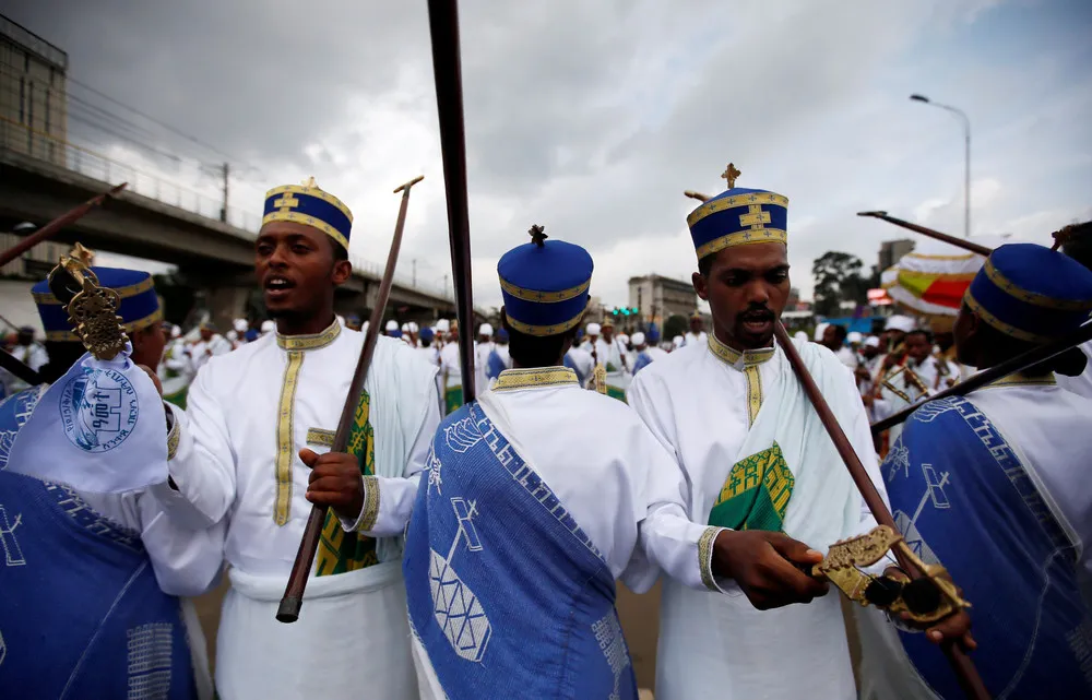
[[[966,399],[929,402],[882,470],[907,544],[943,563],[974,606],[974,662],[990,696],[1092,698],[1092,617],[1075,547],[986,416]],[[963,697],[935,644],[900,636],[937,693]]]

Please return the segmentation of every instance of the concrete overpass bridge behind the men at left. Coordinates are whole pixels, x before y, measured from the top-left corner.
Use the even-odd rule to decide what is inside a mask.
[[[246,316],[248,308],[260,312],[261,294],[252,274],[256,230],[194,213],[191,210],[210,209],[209,200],[201,202],[198,198],[202,195],[195,192],[186,197],[181,188],[124,164],[46,134],[34,137],[40,142],[31,140],[31,147],[11,147],[10,139],[0,139],[0,230],[11,230],[22,221],[41,225],[106,191],[111,183],[128,180],[128,191],[61,232],[57,240],[80,240],[92,250],[177,265],[183,284],[194,289],[197,304],[224,330],[232,319]],[[63,155],[58,157],[58,152]],[[170,199],[176,204],[164,201]],[[248,224],[257,229],[259,222]],[[367,319],[379,292],[382,266],[357,257],[352,257],[352,262],[354,274],[339,290],[337,310]],[[449,293],[395,275],[384,318],[431,322],[454,316],[454,299]],[[484,318],[480,311],[476,316]]]

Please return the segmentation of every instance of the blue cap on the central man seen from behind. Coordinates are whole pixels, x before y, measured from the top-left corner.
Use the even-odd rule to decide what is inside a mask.
[[[557,335],[580,323],[592,283],[592,257],[563,240],[546,240],[532,226],[531,242],[497,263],[510,328],[529,335]]]

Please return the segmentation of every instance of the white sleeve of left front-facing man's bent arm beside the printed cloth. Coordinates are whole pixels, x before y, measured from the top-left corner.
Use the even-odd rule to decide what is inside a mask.
[[[207,366],[198,372],[185,412],[165,404],[174,416],[167,436],[170,480],[151,489],[171,519],[193,530],[223,520],[235,500],[235,455],[212,373]]]

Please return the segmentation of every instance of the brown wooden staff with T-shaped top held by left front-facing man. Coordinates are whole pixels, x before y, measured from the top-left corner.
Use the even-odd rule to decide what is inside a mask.
[[[345,405],[342,407],[341,420],[337,422],[334,442],[330,447],[331,452],[344,452],[348,443],[353,419],[356,416],[357,405],[360,403],[360,392],[364,391],[364,380],[368,377],[368,368],[371,367],[371,357],[376,354],[376,345],[379,343],[379,331],[383,324],[383,311],[387,309],[388,299],[391,298],[391,286],[394,284],[394,268],[399,262],[399,250],[402,248],[402,230],[406,223],[406,209],[410,206],[410,188],[423,179],[425,179],[425,176],[419,175],[394,190],[395,194],[402,192],[402,206],[399,209],[399,220],[394,225],[391,252],[387,256],[387,269],[383,271],[382,281],[379,283],[376,305],[371,309],[371,321],[368,323],[368,332],[364,336],[364,347],[360,349],[360,357],[356,361],[356,371],[353,372],[353,381],[348,385],[348,394],[345,396]],[[285,586],[284,596],[281,598],[281,605],[276,610],[276,618],[282,622],[295,622],[299,619],[299,608],[304,605],[304,590],[307,588],[307,579],[311,574],[314,554],[319,549],[319,538],[322,536],[322,527],[327,522],[327,511],[328,508],[325,506],[311,506],[311,513],[307,517],[307,525],[304,527],[304,536],[299,541],[299,549],[296,550],[296,560],[293,562],[292,573],[288,576],[288,585]]]

